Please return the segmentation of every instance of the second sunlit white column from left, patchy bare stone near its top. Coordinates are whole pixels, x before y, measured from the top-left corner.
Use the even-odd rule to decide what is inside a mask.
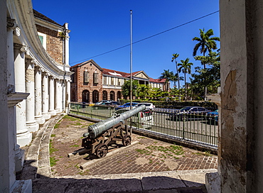
[[[26,92],[29,93],[26,99],[26,128],[28,131],[38,131],[39,127],[35,120],[35,63],[36,60],[26,61]]]

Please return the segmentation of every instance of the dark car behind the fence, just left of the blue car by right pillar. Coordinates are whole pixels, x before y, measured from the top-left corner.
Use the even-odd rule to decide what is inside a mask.
[[[176,111],[176,113],[170,114],[170,118],[173,120],[188,121],[189,119],[203,119],[205,115],[210,112],[200,106],[186,106]]]

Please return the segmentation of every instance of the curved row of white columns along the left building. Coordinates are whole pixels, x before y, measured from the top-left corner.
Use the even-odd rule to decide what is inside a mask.
[[[7,21],[8,83],[16,94],[28,94],[18,102],[14,110],[16,147],[31,143],[32,133],[39,125],[60,112],[68,111],[70,102],[70,76],[55,66],[48,65],[34,57],[32,50],[23,43],[15,43],[14,35],[20,29],[14,19]],[[12,114],[12,112],[10,112]]]

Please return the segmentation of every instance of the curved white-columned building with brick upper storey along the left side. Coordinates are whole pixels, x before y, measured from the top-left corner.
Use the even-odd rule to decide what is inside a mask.
[[[31,0],[1,0],[0,23],[0,192],[21,184],[30,192],[30,180],[15,177],[25,158],[20,147],[39,124],[68,109],[70,31],[34,11]]]

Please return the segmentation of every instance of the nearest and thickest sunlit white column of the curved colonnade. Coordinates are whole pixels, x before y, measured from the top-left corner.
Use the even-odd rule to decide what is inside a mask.
[[[25,81],[25,52],[29,52],[26,45],[15,45],[15,84],[16,92],[26,92]],[[29,53],[28,53],[29,54]],[[23,100],[16,105],[16,136],[17,143],[25,146],[31,143],[32,134],[26,128],[26,101]]]

